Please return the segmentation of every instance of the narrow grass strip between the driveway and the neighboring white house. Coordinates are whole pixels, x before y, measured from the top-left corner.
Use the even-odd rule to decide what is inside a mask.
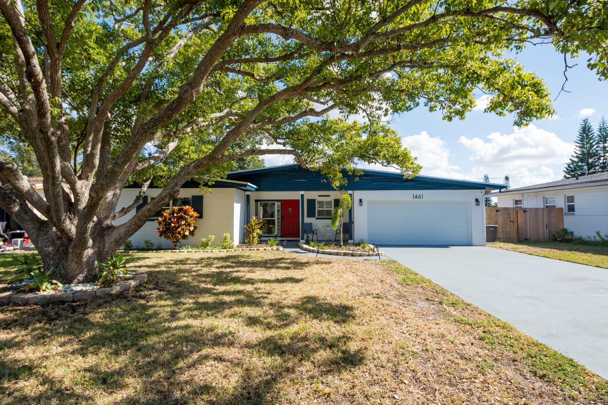
[[[488,246],[608,269],[608,246],[559,242],[499,242]]]

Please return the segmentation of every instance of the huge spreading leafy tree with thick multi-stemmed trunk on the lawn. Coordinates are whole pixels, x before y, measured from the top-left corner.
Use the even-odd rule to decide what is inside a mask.
[[[63,282],[94,277],[95,261],[184,181],[210,184],[238,159],[293,155],[334,185],[360,162],[415,175],[420,165],[380,121],[387,112],[423,104],[461,118],[484,92],[486,112],[516,125],[546,117],[544,83],[506,57],[527,44],[587,52],[607,72],[602,1],[0,0],[0,9],[1,136],[33,151],[46,197],[3,161],[0,207]],[[342,118],[353,114],[365,121]],[[159,197],[115,225],[152,178]],[[130,182],[139,196],[117,207]]]

